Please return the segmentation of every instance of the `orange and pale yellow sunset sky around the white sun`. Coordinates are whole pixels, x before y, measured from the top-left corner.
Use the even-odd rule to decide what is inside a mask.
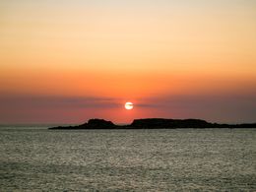
[[[150,117],[256,122],[256,1],[0,1],[0,123]]]

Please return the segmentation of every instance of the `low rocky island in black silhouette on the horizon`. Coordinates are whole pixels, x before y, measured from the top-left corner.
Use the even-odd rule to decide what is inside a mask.
[[[256,123],[219,124],[201,119],[135,119],[130,125],[115,125],[104,119],[90,119],[77,126],[59,126],[49,129],[176,129],[176,128],[256,128]]]

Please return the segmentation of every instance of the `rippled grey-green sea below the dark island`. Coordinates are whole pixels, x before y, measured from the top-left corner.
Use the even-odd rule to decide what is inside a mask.
[[[0,191],[256,191],[256,129],[0,128]]]

